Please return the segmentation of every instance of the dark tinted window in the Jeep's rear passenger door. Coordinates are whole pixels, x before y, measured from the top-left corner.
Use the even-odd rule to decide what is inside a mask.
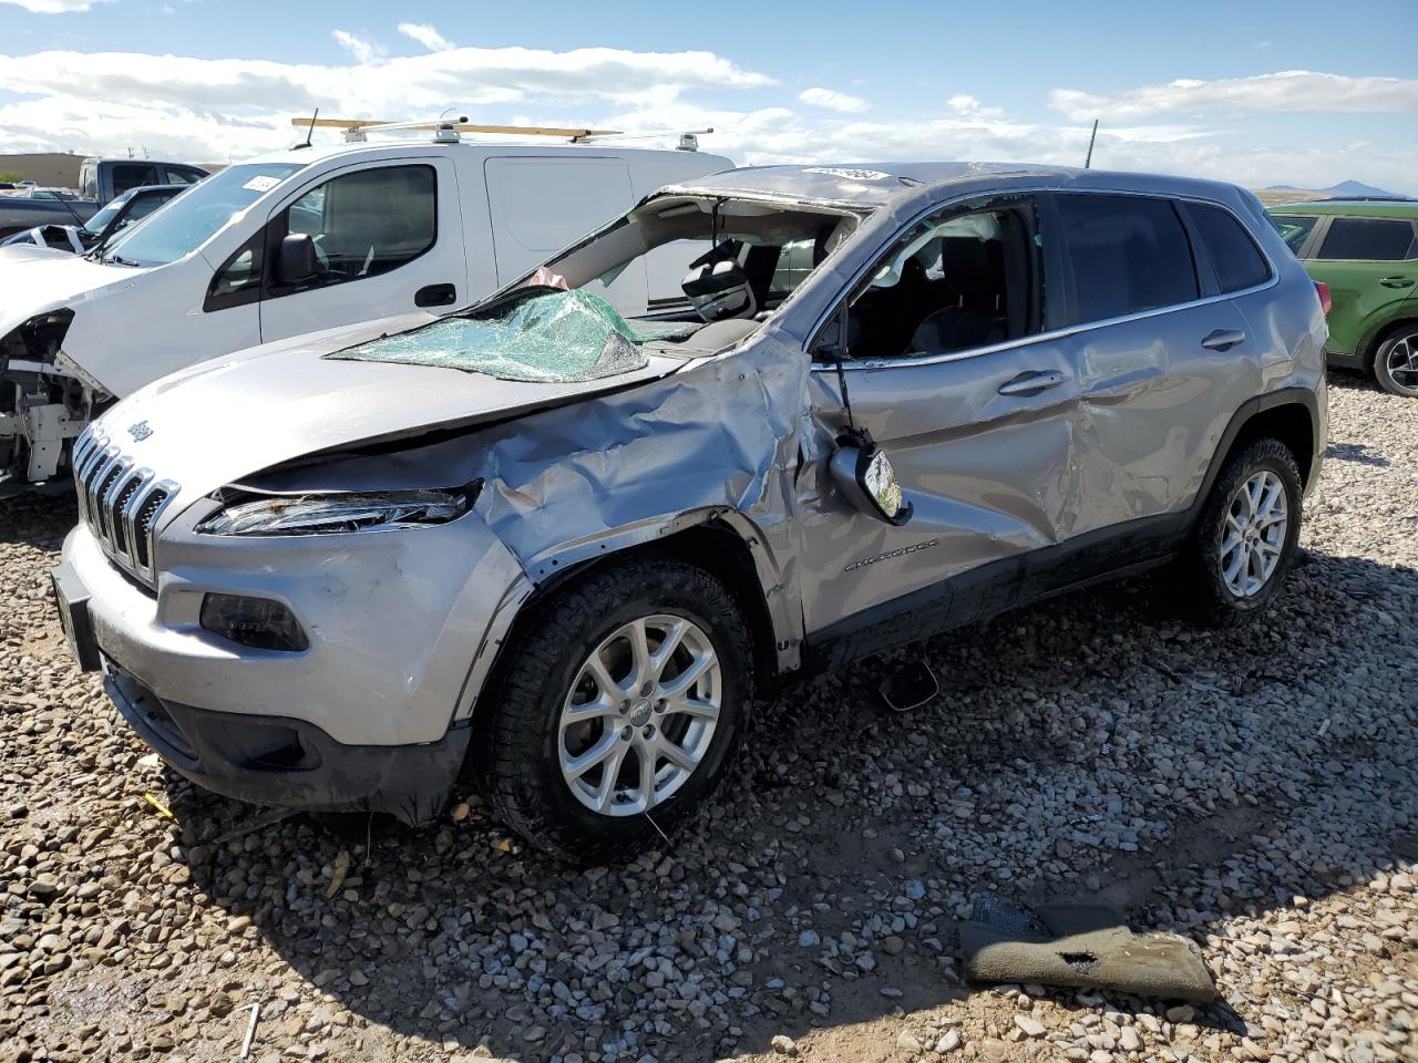
[[[1073,269],[1073,320],[1098,322],[1197,298],[1191,242],[1168,200],[1059,194]]]

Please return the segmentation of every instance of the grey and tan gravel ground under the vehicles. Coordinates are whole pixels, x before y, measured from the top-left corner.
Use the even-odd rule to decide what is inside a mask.
[[[1418,1059],[1418,404],[1337,377],[1307,560],[1254,625],[1147,581],[761,712],[666,852],[576,870],[468,794],[411,832],[204,794],[71,665],[72,503],[0,507],[0,1060]],[[145,801],[152,795],[172,818]],[[1225,1003],[970,988],[970,897],[1103,897]]]

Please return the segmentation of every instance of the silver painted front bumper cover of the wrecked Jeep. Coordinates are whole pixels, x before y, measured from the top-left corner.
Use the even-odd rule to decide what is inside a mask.
[[[62,570],[86,595],[104,656],[164,702],[295,719],[345,746],[417,746],[467,719],[505,624],[527,588],[474,514],[342,536],[163,540],[156,592],[88,527]],[[201,626],[207,594],[282,602],[309,648],[258,649]]]

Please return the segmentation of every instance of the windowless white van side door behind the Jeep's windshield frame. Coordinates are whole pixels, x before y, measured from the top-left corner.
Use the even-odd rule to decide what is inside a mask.
[[[498,283],[545,262],[567,244],[624,214],[635,189],[624,159],[495,156],[484,163]],[[645,264],[587,285],[621,313],[645,312]]]

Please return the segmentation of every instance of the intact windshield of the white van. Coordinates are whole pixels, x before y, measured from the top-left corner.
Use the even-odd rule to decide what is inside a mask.
[[[214,173],[104,249],[102,262],[155,266],[176,262],[207,237],[281,184],[303,163],[242,163]]]

